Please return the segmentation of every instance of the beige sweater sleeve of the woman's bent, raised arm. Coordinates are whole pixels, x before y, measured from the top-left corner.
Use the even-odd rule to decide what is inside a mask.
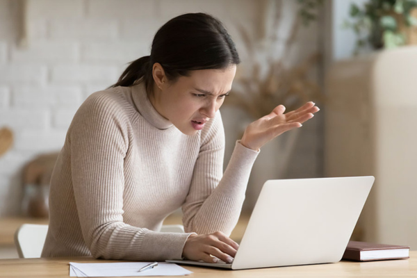
[[[183,224],[187,232],[229,236],[236,226],[252,165],[259,152],[236,142],[223,175],[224,128],[220,111],[202,133],[202,146],[195,163],[190,191],[183,204]]]

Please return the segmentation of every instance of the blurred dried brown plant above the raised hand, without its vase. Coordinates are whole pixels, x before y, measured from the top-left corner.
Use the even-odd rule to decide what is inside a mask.
[[[281,20],[281,1],[274,1],[275,15],[273,15],[272,32],[265,32],[265,38],[254,40],[250,38],[248,31],[239,26],[238,30],[243,38],[245,50],[250,58],[248,61],[251,70],[245,76],[239,72],[236,74],[238,88],[233,89],[233,94],[225,102],[225,105],[236,105],[243,108],[254,119],[268,115],[275,106],[284,104],[286,111],[291,111],[306,101],[323,101],[319,85],[309,78],[313,67],[316,67],[320,54],[310,54],[302,63],[288,67],[284,58],[288,57],[291,47],[295,42],[300,24],[308,25],[313,17],[311,10],[305,10],[305,3],[316,3],[320,0],[299,1],[301,4],[299,13],[293,21],[290,35],[284,42],[284,50],[280,59],[274,58],[279,42],[275,26]],[[313,6],[313,8],[317,8]],[[311,6],[308,6],[311,8]],[[312,9],[312,8],[311,8]],[[259,59],[259,56],[264,56]],[[266,72],[263,76],[261,70]]]

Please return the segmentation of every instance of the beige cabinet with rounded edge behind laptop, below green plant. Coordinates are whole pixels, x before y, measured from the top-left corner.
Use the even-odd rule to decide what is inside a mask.
[[[374,175],[361,240],[417,248],[417,47],[335,63],[326,76],[325,174]]]

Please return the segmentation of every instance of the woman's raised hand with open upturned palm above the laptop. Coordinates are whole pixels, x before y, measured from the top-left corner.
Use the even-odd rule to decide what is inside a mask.
[[[311,119],[314,113],[320,111],[312,101],[307,102],[295,111],[284,114],[285,106],[279,105],[269,115],[261,117],[252,122],[245,129],[240,144],[258,150],[266,142],[274,139],[280,134],[302,126],[303,122]]]

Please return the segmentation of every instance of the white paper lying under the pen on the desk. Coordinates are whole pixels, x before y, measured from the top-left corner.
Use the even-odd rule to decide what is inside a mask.
[[[140,263],[70,263],[71,277],[126,277],[126,276],[181,276],[191,271],[175,263],[158,263],[156,268],[138,272],[140,268],[152,262]]]

